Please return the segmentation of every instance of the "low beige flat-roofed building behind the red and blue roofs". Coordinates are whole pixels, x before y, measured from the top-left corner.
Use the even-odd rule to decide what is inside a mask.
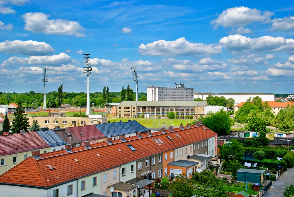
[[[32,125],[33,121],[37,121],[41,127],[48,127],[55,129],[56,127],[66,128],[81,126],[83,124],[93,125],[107,123],[107,118],[89,118],[89,117],[29,117],[29,124]]]

